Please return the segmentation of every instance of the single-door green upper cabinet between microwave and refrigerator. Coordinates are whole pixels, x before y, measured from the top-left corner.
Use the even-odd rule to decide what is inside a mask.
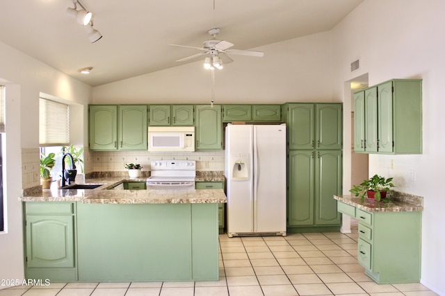
[[[195,150],[223,149],[220,105],[195,106]]]

